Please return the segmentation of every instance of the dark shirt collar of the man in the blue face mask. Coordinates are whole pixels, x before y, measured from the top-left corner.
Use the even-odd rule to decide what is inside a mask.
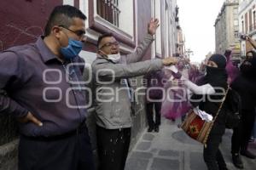
[[[42,59],[44,60],[44,63],[48,62],[51,59],[57,59],[55,54],[53,54],[50,49],[46,46],[44,42],[44,37],[38,37],[38,40],[36,42],[37,48],[39,50],[39,53],[41,54]]]

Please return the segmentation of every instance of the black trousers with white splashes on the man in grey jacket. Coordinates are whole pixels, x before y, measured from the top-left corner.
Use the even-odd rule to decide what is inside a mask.
[[[131,128],[96,127],[100,170],[124,170],[131,142]]]

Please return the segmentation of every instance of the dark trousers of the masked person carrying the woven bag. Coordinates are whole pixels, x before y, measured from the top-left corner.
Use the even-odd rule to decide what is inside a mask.
[[[218,146],[221,142],[224,126],[221,128],[212,129],[213,133],[210,133],[207,139],[207,145],[204,147],[203,156],[204,161],[207,164],[208,170],[224,170],[227,169],[224,157],[221,151],[218,149]],[[216,130],[219,130],[219,133],[214,133]]]

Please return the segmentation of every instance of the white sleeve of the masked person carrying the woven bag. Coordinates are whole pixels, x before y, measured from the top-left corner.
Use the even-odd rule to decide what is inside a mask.
[[[209,83],[202,86],[197,86],[195,83],[190,82],[189,80],[184,80],[184,85],[194,94],[215,94],[214,88],[212,88]]]

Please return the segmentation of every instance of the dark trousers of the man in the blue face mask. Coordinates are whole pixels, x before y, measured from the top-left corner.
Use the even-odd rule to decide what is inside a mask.
[[[20,136],[19,170],[94,170],[87,128],[57,137]]]

